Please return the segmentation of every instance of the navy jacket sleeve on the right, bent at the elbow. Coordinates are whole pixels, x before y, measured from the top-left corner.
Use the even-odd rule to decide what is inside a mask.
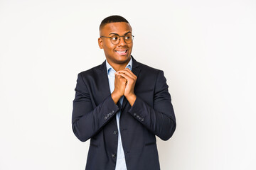
[[[137,96],[128,112],[161,140],[169,140],[176,129],[176,118],[163,71],[156,79],[153,108]]]

